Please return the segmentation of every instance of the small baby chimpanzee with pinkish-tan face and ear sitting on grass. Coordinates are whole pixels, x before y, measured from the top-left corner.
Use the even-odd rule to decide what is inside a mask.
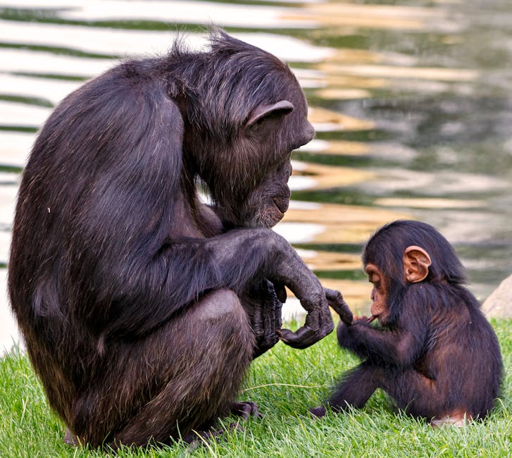
[[[340,322],[337,338],[364,361],[344,376],[330,407],[363,407],[382,388],[432,424],[484,418],[499,395],[501,354],[449,242],[425,223],[396,221],[370,238],[363,264],[372,318]],[[373,318],[380,327],[370,326]]]

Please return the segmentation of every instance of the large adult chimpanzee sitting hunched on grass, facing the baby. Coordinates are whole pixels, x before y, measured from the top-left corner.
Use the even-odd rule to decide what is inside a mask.
[[[334,328],[341,295],[269,229],[287,210],[291,151],[314,135],[306,111],[284,63],[218,31],[208,51],[175,45],[109,70],[46,121],[20,185],[9,293],[80,441],[166,442],[255,414],[235,402],[252,357]],[[296,333],[279,330],[285,285],[308,311]]]

